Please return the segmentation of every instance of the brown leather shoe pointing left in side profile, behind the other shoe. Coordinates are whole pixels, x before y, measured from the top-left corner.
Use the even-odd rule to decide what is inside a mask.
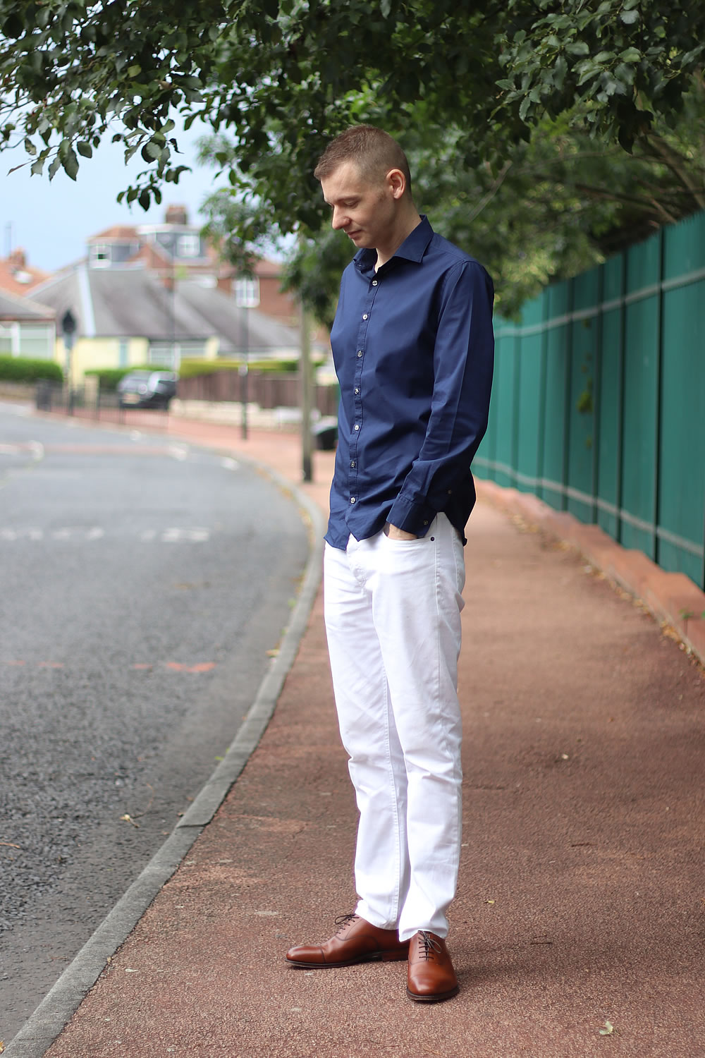
[[[409,942],[400,941],[395,929],[379,929],[359,915],[340,915],[335,919],[335,935],[320,946],[290,948],[286,962],[292,966],[324,970],[355,963],[391,963],[407,959]]]

